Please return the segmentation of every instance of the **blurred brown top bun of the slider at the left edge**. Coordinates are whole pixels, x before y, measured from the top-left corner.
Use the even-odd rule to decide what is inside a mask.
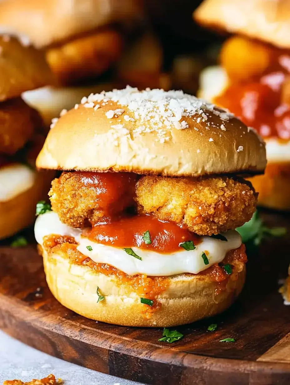
[[[9,35],[0,35],[0,68],[0,102],[53,82],[44,53]]]

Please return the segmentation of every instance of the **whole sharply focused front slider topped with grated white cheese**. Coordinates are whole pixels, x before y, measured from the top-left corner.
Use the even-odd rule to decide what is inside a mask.
[[[263,173],[263,141],[182,91],[127,87],[82,102],[55,120],[37,158],[62,171],[35,223],[55,298],[127,326],[228,308],[246,274],[235,228],[257,201],[243,176]]]

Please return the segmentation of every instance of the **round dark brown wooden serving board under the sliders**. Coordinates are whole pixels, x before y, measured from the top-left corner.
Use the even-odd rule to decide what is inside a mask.
[[[264,214],[270,226],[290,216]],[[158,342],[162,329],[129,328],[83,318],[51,295],[36,245],[0,246],[0,327],[18,340],[64,360],[118,377],[158,385],[289,385],[290,306],[278,279],[290,262],[290,237],[248,250],[240,299],[225,313],[180,326],[184,339]],[[218,330],[208,332],[211,323]],[[234,343],[222,343],[223,338]],[[57,374],[57,373],[56,373]]]

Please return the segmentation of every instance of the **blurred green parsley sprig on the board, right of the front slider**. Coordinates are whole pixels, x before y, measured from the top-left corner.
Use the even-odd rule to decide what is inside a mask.
[[[258,211],[255,211],[250,221],[238,227],[236,230],[240,233],[243,243],[251,241],[255,246],[258,246],[265,236],[280,237],[287,233],[285,227],[273,227],[269,229],[265,226],[259,217]]]

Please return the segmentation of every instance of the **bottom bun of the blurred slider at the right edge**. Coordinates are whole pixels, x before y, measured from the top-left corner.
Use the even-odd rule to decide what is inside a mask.
[[[290,210],[290,162],[268,163],[264,175],[249,178],[259,193],[258,205]]]

